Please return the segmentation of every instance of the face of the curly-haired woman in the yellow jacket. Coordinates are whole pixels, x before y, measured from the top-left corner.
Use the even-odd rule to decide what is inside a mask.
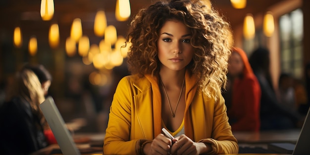
[[[193,57],[194,48],[190,43],[192,34],[182,22],[169,20],[164,23],[157,41],[158,58],[161,68],[182,70]]]

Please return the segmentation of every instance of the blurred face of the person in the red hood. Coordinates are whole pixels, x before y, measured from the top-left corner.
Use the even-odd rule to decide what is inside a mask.
[[[240,54],[233,52],[228,61],[228,72],[232,76],[238,76],[243,72],[244,63]]]

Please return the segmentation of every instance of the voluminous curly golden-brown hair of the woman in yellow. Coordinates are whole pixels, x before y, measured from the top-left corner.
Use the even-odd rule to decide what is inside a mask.
[[[203,92],[217,92],[225,86],[232,48],[230,24],[203,0],[160,0],[137,13],[127,36],[127,43],[131,43],[127,59],[131,73],[158,74],[157,41],[168,20],[183,22],[192,33],[195,52],[187,69],[198,77]]]

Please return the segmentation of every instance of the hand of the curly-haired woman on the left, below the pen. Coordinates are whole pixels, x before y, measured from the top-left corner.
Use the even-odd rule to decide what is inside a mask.
[[[145,145],[143,152],[146,155],[170,155],[171,145],[172,141],[169,138],[159,134],[152,143]]]

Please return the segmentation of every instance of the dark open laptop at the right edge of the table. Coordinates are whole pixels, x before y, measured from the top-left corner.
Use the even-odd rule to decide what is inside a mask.
[[[292,143],[271,143],[268,150],[278,151],[279,153],[292,155],[310,155],[310,108],[306,115],[302,130],[296,144]]]

